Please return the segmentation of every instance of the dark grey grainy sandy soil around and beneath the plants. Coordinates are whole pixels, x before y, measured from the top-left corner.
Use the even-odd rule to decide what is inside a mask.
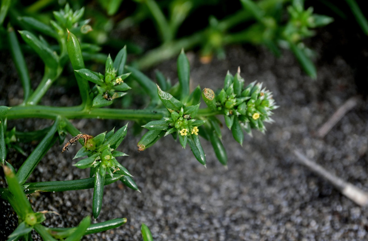
[[[364,44],[363,44],[364,43]],[[277,59],[268,50],[254,46],[226,49],[226,60],[203,65],[196,52],[189,52],[192,87],[222,88],[226,71],[240,66],[246,83],[263,82],[273,92],[277,105],[275,123],[265,135],[254,131],[243,147],[223,128],[229,156],[226,170],[216,160],[206,141],[207,169],[170,136],[137,152],[140,136],[132,131],[118,150],[128,157],[118,159],[127,167],[142,193],[116,182],[105,187],[98,222],[127,217],[121,227],[88,235],[83,240],[142,240],[141,223],[155,240],[367,240],[368,209],[340,194],[332,185],[296,162],[299,149],[323,167],[368,191],[367,36],[360,29],[334,23],[321,29],[307,45],[318,53],[318,78],[302,72],[290,52]],[[1,54],[0,105],[21,102],[20,82],[7,53]],[[29,68],[36,69],[30,61]],[[157,66],[176,82],[176,60]],[[153,77],[153,70],[146,71]],[[39,81],[39,73],[31,79]],[[358,95],[359,103],[326,135],[315,132],[347,99]],[[78,104],[70,89],[54,86],[42,104]],[[11,120],[9,128],[32,131],[50,125],[50,120]],[[80,131],[97,135],[126,121],[74,120]],[[132,123],[130,123],[131,127]],[[128,129],[129,130],[129,129]],[[68,136],[69,138],[70,136]],[[37,143],[24,144],[31,153]],[[73,180],[88,177],[88,171],[73,167],[78,146],[61,153],[54,145],[41,160],[29,182]],[[8,160],[19,167],[25,158],[10,150]],[[2,174],[3,175],[3,174]],[[1,185],[5,186],[3,177]],[[29,196],[35,211],[51,210],[45,226],[71,227],[92,215],[93,190],[36,193]],[[1,236],[14,229],[16,216],[1,201]]]

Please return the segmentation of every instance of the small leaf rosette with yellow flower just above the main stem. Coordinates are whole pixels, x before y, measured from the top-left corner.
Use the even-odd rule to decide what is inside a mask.
[[[113,61],[110,55],[107,57],[105,65],[105,75],[82,68],[75,70],[83,79],[95,84],[92,92],[95,97],[92,100],[93,107],[109,106],[113,100],[126,95],[128,89],[131,89],[125,82],[130,73],[124,74],[124,65],[127,57],[126,47],[120,50]]]

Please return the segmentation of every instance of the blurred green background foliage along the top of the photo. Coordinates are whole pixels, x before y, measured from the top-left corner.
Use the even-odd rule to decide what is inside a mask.
[[[88,26],[77,34],[82,42],[91,43],[84,46],[86,60],[103,63],[105,53],[117,53],[127,45],[131,65],[139,69],[177,56],[182,48],[199,51],[202,63],[208,63],[213,57],[225,58],[227,45],[251,44],[265,46],[276,56],[281,56],[283,49],[292,51],[303,70],[315,79],[316,53],[305,39],[334,19],[350,21],[349,24],[359,25],[368,34],[368,23],[359,7],[361,2],[75,0],[69,4],[72,10],[84,7],[84,19],[89,19],[82,23]],[[20,16],[28,15],[49,24],[53,12],[64,8],[66,3],[66,0],[33,3],[3,0],[0,21],[8,14],[15,29],[32,30]],[[0,41],[1,48],[6,48],[6,42]]]

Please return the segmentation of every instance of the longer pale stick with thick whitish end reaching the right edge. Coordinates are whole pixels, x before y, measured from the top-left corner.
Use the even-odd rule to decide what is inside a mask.
[[[360,206],[368,205],[368,193],[360,188],[355,187],[350,182],[344,181],[326,169],[324,169],[319,164],[309,160],[306,156],[300,153],[298,150],[294,150],[295,155],[298,157],[299,163],[307,166],[311,171],[318,174],[319,176],[327,179],[336,189],[342,192],[351,201],[357,203]]]

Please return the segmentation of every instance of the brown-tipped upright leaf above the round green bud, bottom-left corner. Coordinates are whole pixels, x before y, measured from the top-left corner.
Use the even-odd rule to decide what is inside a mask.
[[[17,202],[16,204],[21,207],[21,209],[18,210],[18,212],[21,213],[17,213],[17,215],[20,216],[21,219],[25,220],[25,216],[28,213],[33,213],[31,203],[29,203],[27,197],[25,196],[24,191],[21,185],[19,185],[17,177],[15,176],[13,171],[11,171],[8,167],[4,166],[4,174],[6,177],[6,181],[8,182],[9,185],[8,188],[10,193],[14,196]]]

